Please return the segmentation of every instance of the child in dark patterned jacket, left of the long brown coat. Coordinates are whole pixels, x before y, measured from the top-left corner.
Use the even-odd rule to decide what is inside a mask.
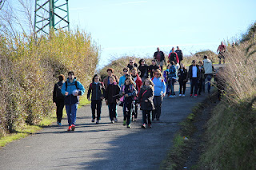
[[[127,128],[130,127],[130,115],[132,113],[132,105],[133,101],[136,100],[136,94],[137,90],[135,89],[134,81],[131,79],[131,77],[126,77],[125,85],[122,85],[120,90],[120,101],[124,101],[124,119],[123,119],[123,125],[127,125]]]

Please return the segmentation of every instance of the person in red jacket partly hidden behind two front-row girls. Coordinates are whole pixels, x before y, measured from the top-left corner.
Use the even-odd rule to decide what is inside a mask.
[[[135,82],[135,87],[137,89],[137,92],[139,93],[139,91],[141,90],[141,86],[142,86],[142,79],[141,77],[138,76],[138,69],[137,68],[133,68],[130,70],[130,74],[131,77],[134,78],[134,82]],[[132,113],[132,121],[136,121],[137,117],[138,117],[138,100],[135,100],[135,104],[134,109],[133,109],[133,113]]]

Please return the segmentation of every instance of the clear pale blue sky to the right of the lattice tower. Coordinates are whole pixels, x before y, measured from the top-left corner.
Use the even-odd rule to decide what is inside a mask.
[[[114,57],[152,57],[159,46],[190,54],[216,52],[256,21],[255,0],[72,0],[70,28],[90,33],[105,65]]]

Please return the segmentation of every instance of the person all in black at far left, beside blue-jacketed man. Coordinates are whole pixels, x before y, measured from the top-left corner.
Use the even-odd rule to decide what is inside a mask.
[[[57,125],[62,125],[62,116],[64,108],[64,95],[62,94],[62,85],[65,83],[65,77],[63,74],[58,76],[58,83],[54,85],[53,101],[57,107]]]

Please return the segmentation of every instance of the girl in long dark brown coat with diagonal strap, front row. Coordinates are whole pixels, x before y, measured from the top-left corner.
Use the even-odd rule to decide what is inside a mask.
[[[154,110],[154,84],[150,78],[143,82],[141,91],[138,93],[138,101],[142,110],[142,128],[151,127],[150,112]]]

